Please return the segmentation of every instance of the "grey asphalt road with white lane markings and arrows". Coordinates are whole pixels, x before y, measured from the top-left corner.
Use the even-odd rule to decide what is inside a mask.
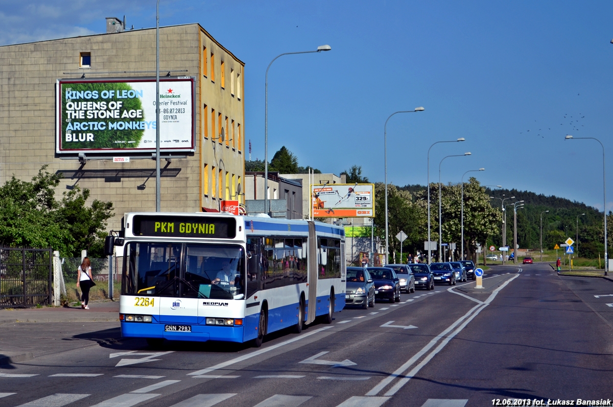
[[[527,264],[492,267],[485,289],[473,286],[346,309],[330,325],[270,335],[259,349],[101,340],[4,366],[0,405],[462,407],[613,398],[613,282]]]

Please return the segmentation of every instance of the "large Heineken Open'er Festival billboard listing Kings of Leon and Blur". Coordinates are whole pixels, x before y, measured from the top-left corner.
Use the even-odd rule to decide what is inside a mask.
[[[160,78],[160,149],[194,151],[194,78]],[[154,152],[156,81],[151,78],[58,80],[58,154]]]

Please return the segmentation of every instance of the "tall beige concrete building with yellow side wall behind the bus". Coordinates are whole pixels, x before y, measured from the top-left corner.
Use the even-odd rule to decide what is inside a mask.
[[[107,18],[107,34],[0,47],[0,182],[13,174],[29,181],[48,165],[47,171],[64,175],[57,198],[78,185],[91,191],[89,203],[111,201],[115,216],[109,228],[114,230],[124,212],[155,210],[151,151],[88,151],[80,159],[59,154],[56,126],[63,116],[56,119],[56,100],[63,94],[56,94],[56,82],[154,78],[156,30],[125,28],[124,22]],[[162,151],[161,157],[169,159],[162,160],[161,210],[215,211],[221,199],[243,201],[237,187],[245,173],[245,63],[194,23],[160,29],[160,72],[161,78],[194,78],[193,140],[191,132],[180,135],[192,147]],[[161,85],[160,91],[167,90]],[[114,163],[115,155],[130,160]]]

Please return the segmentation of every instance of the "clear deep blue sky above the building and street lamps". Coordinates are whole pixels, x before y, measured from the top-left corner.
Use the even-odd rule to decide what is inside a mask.
[[[0,0],[0,45],[105,32],[105,17],[155,26],[155,1]],[[613,157],[613,2],[161,0],[160,25],[200,23],[245,62],[245,138],[264,159],[370,181],[460,182],[530,190],[603,209]],[[151,44],[155,52],[155,44]],[[608,163],[611,163],[609,160]],[[607,163],[607,164],[608,164]],[[613,209],[608,165],[607,210]]]

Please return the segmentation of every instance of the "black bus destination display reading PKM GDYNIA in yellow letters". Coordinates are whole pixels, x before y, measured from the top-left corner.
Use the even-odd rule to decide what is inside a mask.
[[[134,217],[134,236],[209,237],[234,239],[236,220],[225,217],[144,216]]]

